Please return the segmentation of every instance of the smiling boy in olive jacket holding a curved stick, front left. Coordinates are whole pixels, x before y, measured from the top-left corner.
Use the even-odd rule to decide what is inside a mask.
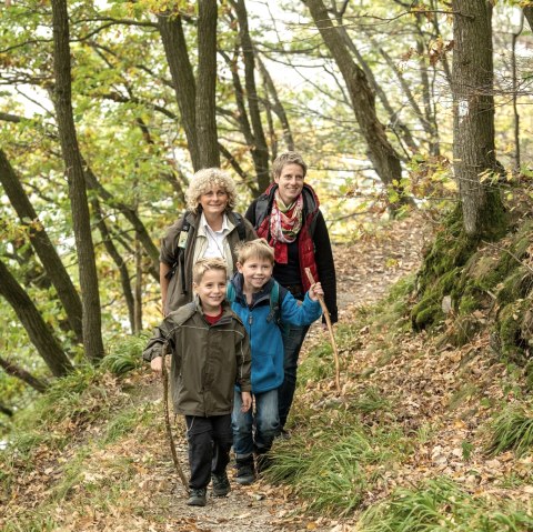
[[[252,404],[251,355],[244,325],[225,301],[227,265],[202,259],[193,267],[191,303],[171,312],[155,329],[142,355],[161,372],[161,351],[169,344],[170,383],[175,413],[184,414],[191,476],[189,505],[204,506],[207,486],[213,495],[230,491],[225,468],[232,445],[234,387],[242,410]]]

